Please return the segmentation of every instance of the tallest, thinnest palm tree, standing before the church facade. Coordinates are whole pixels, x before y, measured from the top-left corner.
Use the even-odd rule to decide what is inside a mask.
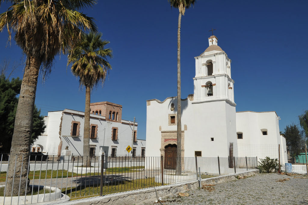
[[[181,140],[182,140],[182,124],[181,124],[181,63],[180,63],[180,47],[181,47],[181,17],[184,16],[185,8],[188,9],[194,5],[196,0],[168,0],[171,7],[179,9],[179,19],[177,26],[177,144],[176,144],[176,173],[182,173],[181,162]]]

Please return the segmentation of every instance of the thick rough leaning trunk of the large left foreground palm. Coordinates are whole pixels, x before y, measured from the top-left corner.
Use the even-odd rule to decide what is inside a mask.
[[[20,182],[20,195],[29,192],[27,171],[32,134],[32,119],[35,101],[36,86],[39,76],[41,60],[37,57],[27,57],[25,73],[23,74],[20,95],[16,110],[14,133],[10,150],[10,162],[6,186],[6,196],[18,195]],[[22,160],[23,157],[23,160]],[[17,159],[16,159],[17,158]],[[16,161],[16,168],[15,168]],[[14,172],[15,170],[15,172]],[[14,183],[13,183],[14,179]],[[27,182],[27,190],[26,190]]]

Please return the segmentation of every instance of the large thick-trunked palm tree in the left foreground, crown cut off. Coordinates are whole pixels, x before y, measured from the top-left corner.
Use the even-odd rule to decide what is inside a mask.
[[[0,32],[12,30],[17,45],[26,55],[20,96],[15,117],[6,195],[20,195],[26,189],[28,154],[31,140],[32,116],[39,70],[51,71],[55,55],[65,52],[82,30],[94,30],[93,18],[77,10],[93,6],[96,0],[18,0],[0,14]],[[14,159],[13,159],[14,156]],[[16,156],[16,158],[15,158]],[[16,159],[16,170],[14,172]],[[14,182],[14,184],[13,184]],[[19,183],[21,182],[21,183]],[[13,188],[14,187],[14,188]]]

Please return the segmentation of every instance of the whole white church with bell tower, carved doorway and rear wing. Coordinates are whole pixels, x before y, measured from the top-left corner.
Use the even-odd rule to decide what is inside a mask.
[[[273,151],[270,157],[278,158],[278,144],[286,150],[286,140],[279,134],[279,117],[276,112],[236,112],[231,60],[217,40],[216,36],[209,37],[209,47],[195,57],[194,94],[181,99],[182,156],[259,153],[258,158],[264,158],[269,156],[266,151],[255,154],[244,147],[277,145],[277,153]],[[150,147],[146,156],[176,156],[176,105],[176,97],[147,101],[146,140]]]

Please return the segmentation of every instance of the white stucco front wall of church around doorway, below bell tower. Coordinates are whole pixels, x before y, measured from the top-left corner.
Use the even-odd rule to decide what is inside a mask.
[[[194,157],[195,151],[206,157],[228,156],[229,142],[236,141],[235,107],[225,101],[193,102],[188,97],[181,104],[184,156]],[[172,103],[174,111],[170,109]],[[175,114],[176,109],[176,97],[163,102],[151,100],[147,105],[146,156],[160,156],[162,132],[176,132],[176,125],[168,125],[168,116]]]

